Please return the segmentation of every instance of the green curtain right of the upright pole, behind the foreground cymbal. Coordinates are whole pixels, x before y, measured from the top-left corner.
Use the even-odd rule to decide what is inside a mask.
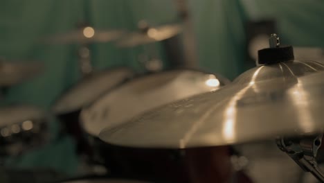
[[[233,79],[244,71],[244,24],[276,19],[284,44],[324,47],[324,1],[189,0],[199,64]]]

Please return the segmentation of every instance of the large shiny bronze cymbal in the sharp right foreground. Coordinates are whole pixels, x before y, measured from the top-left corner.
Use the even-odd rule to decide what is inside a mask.
[[[216,92],[165,105],[99,137],[122,146],[190,148],[321,130],[323,70],[310,60],[255,67]]]

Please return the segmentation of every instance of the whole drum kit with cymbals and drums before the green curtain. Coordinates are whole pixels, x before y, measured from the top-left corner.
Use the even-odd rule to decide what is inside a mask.
[[[258,51],[258,66],[233,82],[197,69],[140,76],[126,67],[91,67],[89,44],[134,47],[174,37],[181,28],[141,24],[127,33],[84,26],[42,40],[80,44],[84,77],[51,112],[78,142],[78,155],[106,170],[58,182],[291,182],[289,173],[305,175],[297,165],[324,182],[324,63],[296,60],[292,46],[281,46],[275,34],[270,48]],[[14,63],[3,62],[2,87],[41,70]],[[0,125],[1,155],[24,153],[48,139],[46,113],[35,107],[3,107]]]

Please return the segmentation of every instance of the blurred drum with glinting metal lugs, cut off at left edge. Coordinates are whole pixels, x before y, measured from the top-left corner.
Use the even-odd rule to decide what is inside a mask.
[[[37,107],[0,108],[0,154],[19,155],[49,139],[46,115]]]

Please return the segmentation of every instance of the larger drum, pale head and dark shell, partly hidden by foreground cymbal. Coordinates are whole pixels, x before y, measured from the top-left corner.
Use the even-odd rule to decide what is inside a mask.
[[[105,94],[80,114],[83,129],[95,150],[94,161],[105,164],[113,175],[188,181],[181,151],[114,146],[100,141],[98,134],[103,128],[124,123],[155,107],[215,91],[227,83],[229,80],[222,76],[178,69],[135,78]]]

